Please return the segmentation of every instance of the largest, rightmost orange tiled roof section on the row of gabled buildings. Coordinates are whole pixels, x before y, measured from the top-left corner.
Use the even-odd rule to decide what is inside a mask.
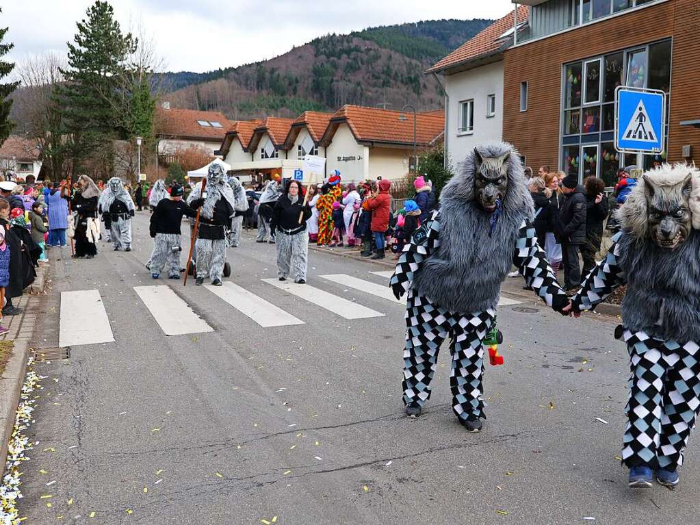
[[[400,120],[400,116],[405,120]],[[343,106],[330,119],[321,144],[328,146],[337,127],[345,123],[358,142],[386,144],[413,144],[413,113],[363,106]],[[444,131],[444,111],[418,113],[416,118],[416,143],[428,146]]]

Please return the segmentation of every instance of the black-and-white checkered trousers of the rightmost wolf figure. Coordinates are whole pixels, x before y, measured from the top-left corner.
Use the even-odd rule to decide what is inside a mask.
[[[630,467],[675,470],[683,463],[683,450],[700,407],[699,346],[629,330],[623,339],[631,374],[622,461]]]

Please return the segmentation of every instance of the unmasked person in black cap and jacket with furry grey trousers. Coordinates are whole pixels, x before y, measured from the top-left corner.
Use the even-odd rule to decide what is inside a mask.
[[[183,216],[194,217],[197,211],[190,208],[182,197],[184,188],[173,184],[170,198],[162,199],[151,215],[151,237],[153,253],[151,253],[151,276],[158,279],[160,273],[168,268],[169,279],[180,279],[180,225]]]

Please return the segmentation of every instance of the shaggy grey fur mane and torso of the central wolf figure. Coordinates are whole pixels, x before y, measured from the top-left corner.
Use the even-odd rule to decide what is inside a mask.
[[[534,216],[517,151],[496,142],[478,146],[482,158],[505,158],[507,188],[502,213],[491,231],[491,214],[475,200],[475,155],[472,151],[440,195],[440,246],[428,256],[413,287],[421,295],[463,314],[495,308],[500,283],[513,262],[523,221]]]

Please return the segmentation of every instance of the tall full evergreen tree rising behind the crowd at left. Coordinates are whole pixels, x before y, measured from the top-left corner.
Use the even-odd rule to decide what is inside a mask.
[[[123,76],[125,59],[134,52],[136,40],[123,34],[114,10],[97,0],[78,22],[74,43],[68,43],[69,69],[62,71],[66,83],[58,90],[64,111],[66,147],[73,160],[73,173],[91,160],[99,175],[111,172],[111,141],[118,135],[117,79]],[[107,172],[107,173],[105,173]]]

